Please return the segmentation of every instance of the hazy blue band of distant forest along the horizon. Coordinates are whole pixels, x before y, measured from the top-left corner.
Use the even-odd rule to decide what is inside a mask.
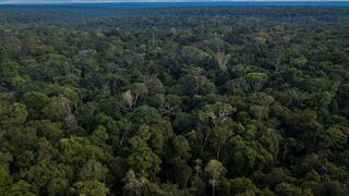
[[[180,8],[100,8],[69,5],[0,5],[0,23],[95,26],[119,25],[120,16],[233,16],[273,21],[314,23],[349,23],[349,8],[336,7],[180,7]],[[117,19],[113,19],[117,17]]]

